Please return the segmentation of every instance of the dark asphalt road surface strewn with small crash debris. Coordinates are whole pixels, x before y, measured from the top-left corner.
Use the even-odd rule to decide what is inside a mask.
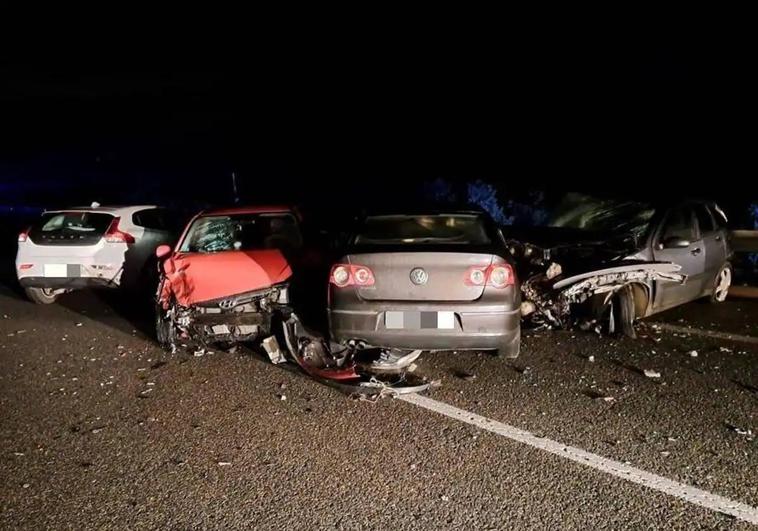
[[[250,354],[164,353],[141,314],[0,288],[2,528],[751,528]],[[752,301],[659,320],[758,336]],[[758,507],[758,345],[641,335],[528,333],[515,362],[450,352],[419,371],[435,400]]]

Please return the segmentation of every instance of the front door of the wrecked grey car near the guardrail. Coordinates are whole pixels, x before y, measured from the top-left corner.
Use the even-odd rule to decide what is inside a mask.
[[[705,244],[700,239],[695,213],[690,205],[669,210],[653,240],[653,257],[681,266],[687,275],[684,284],[656,281],[653,303],[656,311],[696,299],[703,290]]]

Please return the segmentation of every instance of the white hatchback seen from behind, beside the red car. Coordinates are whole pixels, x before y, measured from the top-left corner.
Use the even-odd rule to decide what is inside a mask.
[[[173,243],[175,221],[153,205],[47,211],[18,236],[19,284],[37,304],[79,288],[137,288],[152,278],[155,248]]]

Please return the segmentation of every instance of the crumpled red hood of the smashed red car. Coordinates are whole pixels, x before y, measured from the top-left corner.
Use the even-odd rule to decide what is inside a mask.
[[[164,264],[165,303],[173,293],[182,306],[264,289],[292,276],[292,269],[276,249],[179,253]]]

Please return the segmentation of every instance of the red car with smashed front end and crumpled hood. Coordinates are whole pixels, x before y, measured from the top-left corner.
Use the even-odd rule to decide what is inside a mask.
[[[289,303],[286,258],[303,245],[289,207],[205,211],[161,261],[156,334],[165,348],[185,341],[233,344],[268,335],[278,304]]]

